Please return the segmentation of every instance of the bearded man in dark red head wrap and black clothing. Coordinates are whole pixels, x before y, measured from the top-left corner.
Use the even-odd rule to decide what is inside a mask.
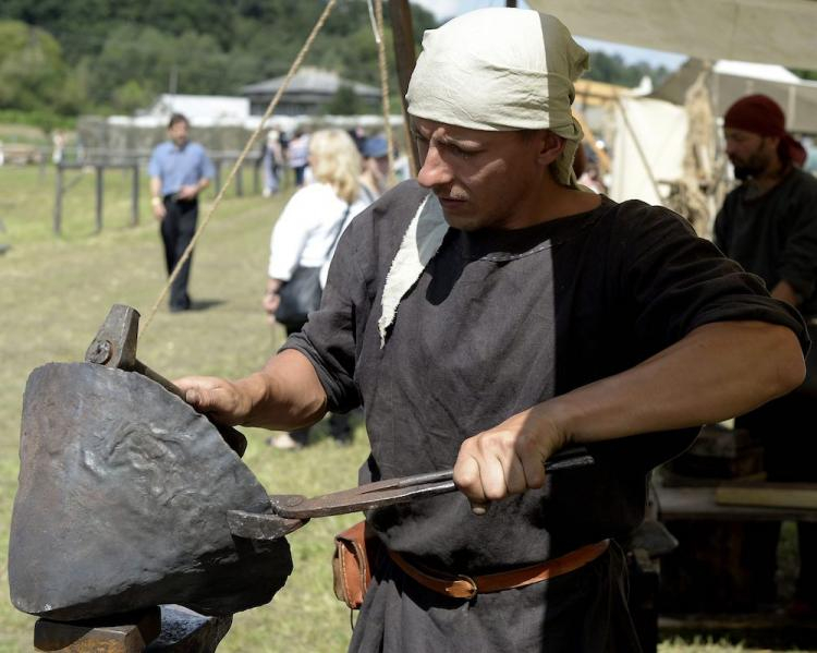
[[[727,256],[761,277],[773,298],[795,306],[817,332],[817,179],[801,170],[805,148],[785,131],[781,108],[749,95],[724,117],[727,155],[741,185],[715,221],[715,242]],[[765,449],[769,481],[815,482],[817,421],[814,352],[806,383],[794,392],[739,418]],[[757,524],[751,537],[757,600],[775,598],[780,524]],[[793,616],[817,615],[817,523],[798,523],[801,570]]]

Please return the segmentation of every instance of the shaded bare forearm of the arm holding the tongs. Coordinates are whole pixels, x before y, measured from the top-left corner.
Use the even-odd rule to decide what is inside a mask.
[[[805,375],[794,334],[759,322],[714,323],[615,376],[532,409],[565,443],[715,423],[796,388]]]

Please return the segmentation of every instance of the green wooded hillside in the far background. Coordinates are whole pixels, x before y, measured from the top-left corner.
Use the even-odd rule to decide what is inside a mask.
[[[131,113],[160,93],[235,95],[284,74],[324,8],[325,1],[293,0],[3,0],[0,112],[48,123],[83,112]],[[419,51],[424,31],[437,25],[420,7],[412,17]],[[386,24],[393,60],[388,13]],[[586,76],[627,86],[644,74],[667,74],[603,52],[592,62]],[[379,86],[366,0],[336,5],[305,63]],[[390,75],[398,110],[394,65]],[[351,113],[362,109],[347,90],[336,104]]]

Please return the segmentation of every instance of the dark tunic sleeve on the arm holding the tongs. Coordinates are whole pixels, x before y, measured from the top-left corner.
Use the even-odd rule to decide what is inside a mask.
[[[800,314],[771,299],[759,277],[724,258],[682,217],[643,203],[622,209],[626,217],[613,238],[618,295],[633,311],[639,340],[658,350],[705,324],[760,321],[789,327],[808,347]]]

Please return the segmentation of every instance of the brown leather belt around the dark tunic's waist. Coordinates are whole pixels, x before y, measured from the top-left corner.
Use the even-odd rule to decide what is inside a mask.
[[[610,541],[602,540],[546,563],[474,577],[462,573],[450,576],[427,568],[419,569],[393,551],[389,551],[389,557],[406,576],[413,578],[424,588],[452,598],[474,598],[477,594],[524,588],[563,573],[570,573],[598,558],[609,546]]]

